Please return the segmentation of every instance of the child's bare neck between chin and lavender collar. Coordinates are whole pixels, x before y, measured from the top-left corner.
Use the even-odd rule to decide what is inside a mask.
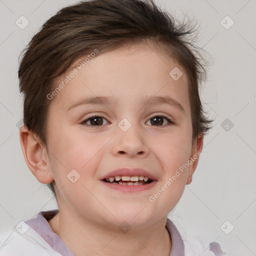
[[[167,216],[143,229],[120,232],[90,219],[60,211],[48,220],[53,232],[75,255],[169,256],[171,239],[165,227]],[[131,246],[132,245],[132,246]]]

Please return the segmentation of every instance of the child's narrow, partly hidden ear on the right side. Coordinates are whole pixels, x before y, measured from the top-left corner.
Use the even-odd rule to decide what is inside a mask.
[[[192,163],[189,164],[189,167],[188,167],[188,173],[187,173],[188,178],[187,178],[186,184],[190,184],[192,181],[192,175],[195,171],[195,168],[199,160],[199,155],[202,150],[202,144],[203,144],[203,134],[199,134],[192,144],[191,155],[189,158],[189,160],[192,161]]]

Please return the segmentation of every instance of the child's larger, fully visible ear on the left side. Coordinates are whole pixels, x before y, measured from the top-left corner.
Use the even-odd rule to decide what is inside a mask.
[[[45,146],[40,145],[26,126],[19,129],[19,139],[22,152],[28,168],[41,183],[50,183],[53,175],[49,167],[48,154]]]

